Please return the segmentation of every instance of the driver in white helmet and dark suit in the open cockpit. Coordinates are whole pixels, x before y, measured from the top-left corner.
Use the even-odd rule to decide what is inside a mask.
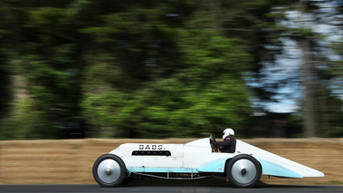
[[[236,140],[234,139],[234,130],[227,128],[223,131],[222,142],[214,142],[214,146],[224,153],[234,153],[236,150]]]

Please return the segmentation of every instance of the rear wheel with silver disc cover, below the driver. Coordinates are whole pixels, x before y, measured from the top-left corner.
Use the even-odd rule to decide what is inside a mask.
[[[249,155],[238,155],[226,166],[226,176],[236,188],[252,188],[259,182],[261,174],[260,162]]]

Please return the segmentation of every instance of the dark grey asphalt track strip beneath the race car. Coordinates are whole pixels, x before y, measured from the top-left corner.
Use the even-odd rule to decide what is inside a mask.
[[[343,186],[329,185],[267,185],[259,184],[255,188],[233,188],[228,183],[213,181],[179,181],[179,180],[138,180],[118,188],[100,188],[98,184],[69,184],[69,185],[0,185],[1,193],[39,192],[164,192],[164,193],[216,193],[216,192],[253,192],[253,193],[316,193],[343,192]]]

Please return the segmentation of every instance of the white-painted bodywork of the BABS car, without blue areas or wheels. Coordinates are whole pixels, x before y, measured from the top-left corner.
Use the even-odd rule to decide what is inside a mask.
[[[169,150],[172,156],[131,156],[133,150]],[[235,153],[212,152],[209,139],[194,140],[186,144],[125,143],[111,154],[123,159],[127,168],[186,168],[198,169],[206,162],[217,159],[231,159],[239,154],[252,155],[255,159],[265,160],[298,173],[301,177],[323,177],[316,169],[310,169],[290,159],[282,158],[266,150],[259,149],[242,140],[237,140]],[[224,167],[222,167],[224,168]],[[263,165],[262,165],[263,168]],[[219,169],[218,169],[219,170]],[[263,169],[262,169],[263,170]],[[224,172],[224,169],[221,170]],[[273,173],[262,173],[275,175]],[[281,175],[275,175],[281,176]]]

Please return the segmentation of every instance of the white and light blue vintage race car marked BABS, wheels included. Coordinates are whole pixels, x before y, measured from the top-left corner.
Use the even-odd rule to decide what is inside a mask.
[[[324,177],[290,159],[237,140],[234,153],[218,152],[212,137],[186,144],[125,143],[100,156],[93,177],[101,187],[118,187],[132,175],[161,179],[223,176],[236,188],[251,188],[261,175],[281,178]]]

